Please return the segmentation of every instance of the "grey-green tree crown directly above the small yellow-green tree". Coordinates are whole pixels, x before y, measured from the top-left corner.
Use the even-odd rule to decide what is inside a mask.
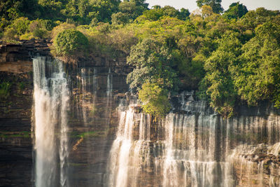
[[[132,47],[127,63],[134,70],[127,76],[130,88],[139,90],[146,81],[160,83],[162,88],[178,90],[179,79],[172,68],[174,57],[166,46],[152,39],[144,39]]]

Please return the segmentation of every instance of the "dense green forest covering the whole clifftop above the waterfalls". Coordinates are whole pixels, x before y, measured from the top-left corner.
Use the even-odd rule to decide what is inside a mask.
[[[51,39],[57,56],[99,51],[127,57],[127,83],[146,113],[164,116],[169,99],[196,90],[221,115],[268,100],[280,107],[280,12],[221,0],[197,11],[148,8],[144,0],[3,0],[5,43]]]

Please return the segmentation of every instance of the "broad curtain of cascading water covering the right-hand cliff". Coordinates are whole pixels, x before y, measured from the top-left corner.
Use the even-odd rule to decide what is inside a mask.
[[[107,186],[279,186],[279,116],[224,119],[192,92],[181,97],[181,113],[153,125],[123,107]]]

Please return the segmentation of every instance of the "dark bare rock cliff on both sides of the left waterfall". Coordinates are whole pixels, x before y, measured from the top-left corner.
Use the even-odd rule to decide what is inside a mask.
[[[8,83],[1,98],[1,175],[0,186],[31,186],[34,183],[34,127],[32,127],[32,58],[52,57],[48,41],[23,41],[0,48],[0,80]],[[50,67],[50,69],[48,69]],[[118,127],[116,107],[128,90],[125,78],[131,71],[125,58],[92,55],[78,64],[65,64],[70,89],[68,125],[69,181],[90,186],[103,183],[107,157]],[[56,143],[58,144],[58,143]],[[32,156],[33,155],[33,156]]]

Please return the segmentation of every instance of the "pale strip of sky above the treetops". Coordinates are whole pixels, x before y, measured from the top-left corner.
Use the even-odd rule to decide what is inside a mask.
[[[222,6],[225,10],[228,10],[230,4],[237,1],[244,4],[249,11],[259,7],[265,7],[268,10],[280,10],[280,0],[222,0]],[[197,9],[196,0],[146,0],[146,3],[150,4],[150,8],[154,5],[169,5],[176,9],[186,8],[190,12]]]

